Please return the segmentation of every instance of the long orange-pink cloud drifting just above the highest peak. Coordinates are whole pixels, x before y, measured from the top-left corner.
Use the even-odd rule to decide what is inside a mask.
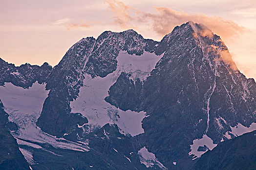
[[[232,20],[222,17],[209,17],[204,14],[191,15],[183,11],[175,11],[167,7],[155,7],[150,12],[134,9],[117,0],[107,0],[109,10],[113,14],[114,22],[122,28],[136,27],[142,23],[148,24],[155,33],[163,36],[171,33],[172,29],[183,23],[192,20],[202,23],[213,33],[218,34],[226,40],[235,40],[240,34],[248,31],[245,27],[239,26]]]

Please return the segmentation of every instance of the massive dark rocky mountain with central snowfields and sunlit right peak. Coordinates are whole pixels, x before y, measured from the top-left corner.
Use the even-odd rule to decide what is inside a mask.
[[[15,70],[0,80],[46,83],[33,84],[49,94],[40,116],[29,117],[44,139],[25,133],[30,144],[18,141],[34,167],[51,169],[43,163],[54,159],[59,168],[190,169],[218,143],[256,130],[254,79],[237,70],[219,36],[192,21],[160,42],[133,30],[86,37],[52,70],[33,67],[47,69],[25,84]],[[42,148],[25,147],[31,142]]]

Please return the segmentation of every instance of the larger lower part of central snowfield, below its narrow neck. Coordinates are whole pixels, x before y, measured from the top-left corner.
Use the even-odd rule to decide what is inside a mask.
[[[146,112],[123,111],[105,101],[108,89],[115,83],[118,76],[119,74],[116,75],[113,72],[104,78],[92,79],[90,75],[85,74],[84,86],[79,89],[79,97],[70,102],[72,112],[79,112],[85,116],[91,128],[115,123],[122,134],[136,136],[144,133],[141,121]]]

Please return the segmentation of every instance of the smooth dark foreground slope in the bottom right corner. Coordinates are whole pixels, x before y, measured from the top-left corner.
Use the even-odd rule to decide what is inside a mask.
[[[197,160],[193,170],[255,170],[256,131],[221,142]]]

